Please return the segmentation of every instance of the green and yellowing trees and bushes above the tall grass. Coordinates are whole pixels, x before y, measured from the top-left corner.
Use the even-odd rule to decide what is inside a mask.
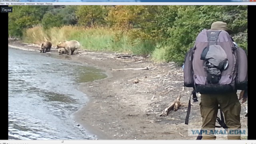
[[[247,6],[13,6],[9,35],[22,38],[34,26],[112,28],[118,30],[114,42],[126,35],[131,45],[150,44],[141,53],[158,50],[164,61],[182,63],[198,33],[214,21],[226,22],[247,50]]]

